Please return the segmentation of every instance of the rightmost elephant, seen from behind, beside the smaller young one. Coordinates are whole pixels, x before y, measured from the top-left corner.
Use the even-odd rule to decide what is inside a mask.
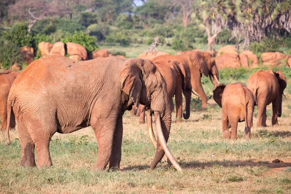
[[[272,102],[272,125],[278,125],[278,117],[282,114],[282,96],[287,86],[286,76],[281,71],[259,70],[249,77],[246,87],[255,97],[258,106],[257,127],[267,127],[267,105]]]

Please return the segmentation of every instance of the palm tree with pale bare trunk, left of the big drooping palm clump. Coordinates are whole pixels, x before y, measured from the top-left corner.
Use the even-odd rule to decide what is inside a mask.
[[[227,27],[228,16],[233,7],[230,0],[200,0],[194,5],[196,17],[203,24],[207,33],[208,49],[214,50],[215,39],[219,32]]]

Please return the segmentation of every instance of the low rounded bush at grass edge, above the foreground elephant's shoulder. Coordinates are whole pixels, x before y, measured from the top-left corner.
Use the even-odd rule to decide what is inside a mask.
[[[106,42],[108,43],[119,43],[121,46],[126,47],[131,43],[131,39],[129,37],[128,32],[111,32],[108,36],[106,36]]]

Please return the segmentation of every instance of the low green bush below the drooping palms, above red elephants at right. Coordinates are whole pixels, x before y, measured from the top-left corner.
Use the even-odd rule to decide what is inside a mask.
[[[249,49],[255,54],[263,52],[275,52],[281,46],[278,39],[264,38],[261,42],[252,42]]]

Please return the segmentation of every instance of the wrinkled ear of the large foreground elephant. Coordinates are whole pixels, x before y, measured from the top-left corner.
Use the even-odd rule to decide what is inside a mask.
[[[140,102],[141,90],[143,87],[143,59],[127,60],[120,72],[119,78],[122,90],[133,98],[133,102],[138,107]]]

